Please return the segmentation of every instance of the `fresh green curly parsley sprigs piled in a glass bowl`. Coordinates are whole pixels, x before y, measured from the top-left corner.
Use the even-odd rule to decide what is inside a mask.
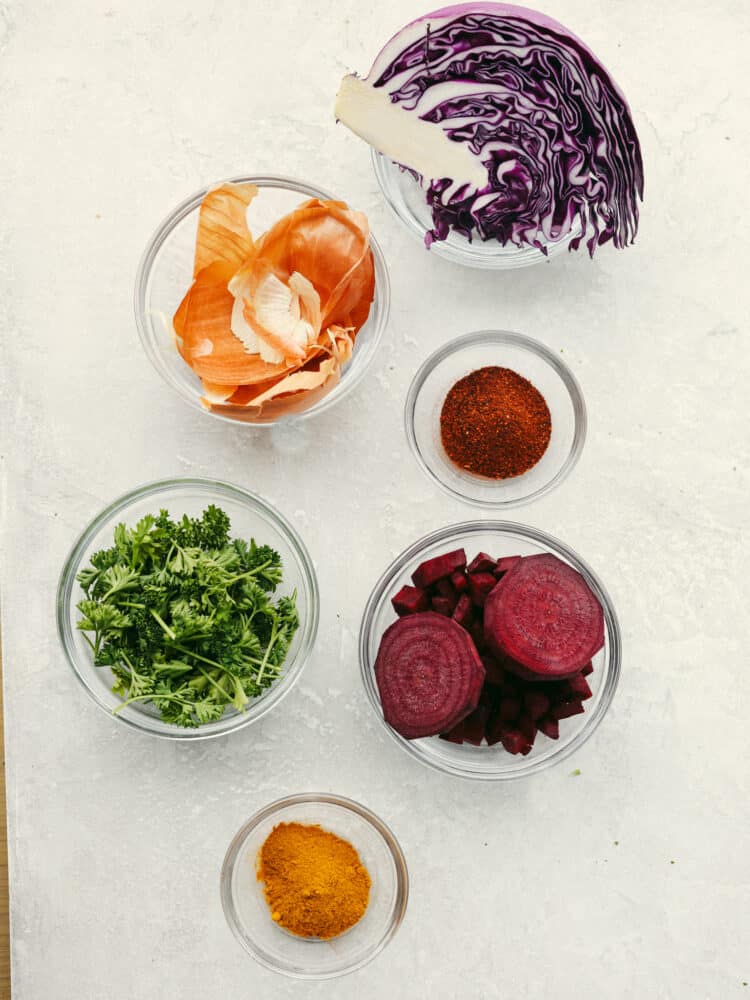
[[[274,599],[281,557],[230,538],[227,514],[172,520],[166,510],[128,528],[78,574],[78,628],[97,667],[110,667],[125,705],[151,703],[194,728],[243,711],[276,680],[299,626],[296,594]]]

